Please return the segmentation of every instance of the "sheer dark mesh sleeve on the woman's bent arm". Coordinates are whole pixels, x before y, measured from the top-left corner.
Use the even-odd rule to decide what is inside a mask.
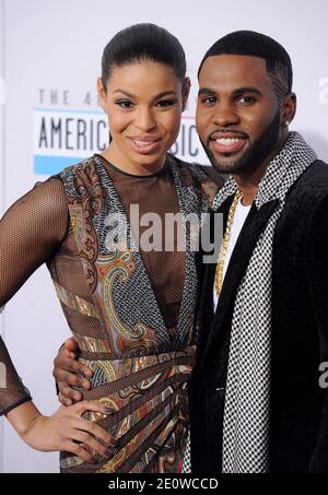
[[[68,228],[62,182],[50,178],[19,199],[0,221],[0,307],[60,247]],[[0,415],[31,400],[0,339]]]

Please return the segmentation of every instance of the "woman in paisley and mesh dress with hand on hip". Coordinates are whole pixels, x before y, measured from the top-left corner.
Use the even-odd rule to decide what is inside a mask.
[[[178,472],[195,355],[190,226],[185,251],[176,238],[173,250],[138,250],[130,205],[164,224],[166,213],[206,211],[218,187],[167,153],[190,86],[174,36],[152,24],[118,33],[97,85],[107,149],[38,185],[0,224],[0,306],[46,262],[92,387],[83,402],[42,415],[1,341],[1,411],[32,447],[61,450],[62,472]],[[113,219],[125,220],[127,238]]]

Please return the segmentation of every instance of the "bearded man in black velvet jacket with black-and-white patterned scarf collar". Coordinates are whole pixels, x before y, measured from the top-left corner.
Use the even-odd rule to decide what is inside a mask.
[[[192,472],[328,472],[327,165],[289,132],[292,66],[273,39],[220,39],[199,85],[198,132],[230,177],[210,215],[218,263],[202,254]]]

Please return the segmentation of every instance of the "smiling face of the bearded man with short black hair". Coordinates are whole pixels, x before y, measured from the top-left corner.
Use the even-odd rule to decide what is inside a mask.
[[[212,165],[247,174],[278,146],[280,107],[266,61],[258,57],[209,57],[199,74],[197,130]]]

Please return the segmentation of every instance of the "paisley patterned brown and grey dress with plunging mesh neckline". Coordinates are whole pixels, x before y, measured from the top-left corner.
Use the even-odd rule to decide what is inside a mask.
[[[218,187],[202,167],[171,155],[167,174],[179,211],[199,216]],[[194,314],[197,267],[186,223],[185,281],[175,329],[159,307],[129,219],[110,175],[94,155],[57,176],[69,208],[69,233],[48,263],[80,361],[94,372],[87,400],[107,403],[113,414],[85,417],[117,440],[92,463],[61,452],[62,472],[176,473],[188,434],[187,380],[195,358]],[[126,219],[130,245],[108,243],[113,223]],[[163,267],[165,269],[165,267]]]

